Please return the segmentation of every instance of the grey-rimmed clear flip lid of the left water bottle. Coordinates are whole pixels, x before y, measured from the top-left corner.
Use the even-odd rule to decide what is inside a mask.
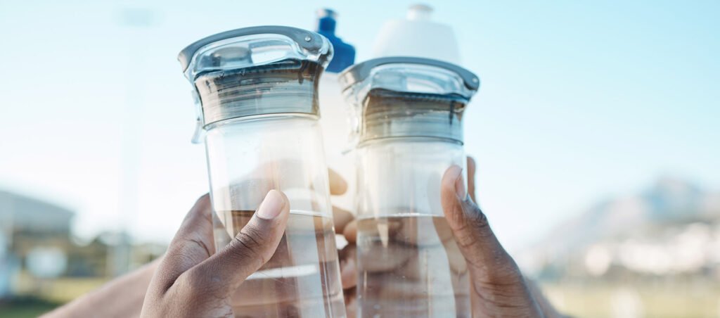
[[[318,33],[262,26],[205,37],[178,60],[194,86],[198,126],[207,127],[251,115],[318,115],[316,80],[332,56]]]

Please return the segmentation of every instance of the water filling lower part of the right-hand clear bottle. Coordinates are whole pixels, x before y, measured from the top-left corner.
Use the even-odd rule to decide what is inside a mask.
[[[358,221],[358,317],[471,317],[467,264],[442,216]]]

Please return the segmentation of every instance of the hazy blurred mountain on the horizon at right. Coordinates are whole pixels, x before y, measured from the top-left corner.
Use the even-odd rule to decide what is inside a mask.
[[[642,193],[604,200],[560,224],[545,239],[519,253],[519,262],[531,271],[551,263],[568,265],[584,257],[593,244],[616,246],[610,242],[629,238],[667,244],[672,240],[667,233],[679,233],[683,226],[697,222],[720,224],[720,193],[664,177]]]

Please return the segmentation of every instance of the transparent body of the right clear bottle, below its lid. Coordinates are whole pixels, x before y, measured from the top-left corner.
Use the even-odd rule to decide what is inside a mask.
[[[440,202],[462,144],[365,143],[358,155],[358,317],[471,317],[469,275]]]

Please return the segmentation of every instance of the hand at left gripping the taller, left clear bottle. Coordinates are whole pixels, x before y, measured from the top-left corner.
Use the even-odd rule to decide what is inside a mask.
[[[213,255],[212,208],[202,196],[158,265],[141,317],[234,317],[234,291],[273,255],[288,215],[287,197],[271,190],[235,239]]]

